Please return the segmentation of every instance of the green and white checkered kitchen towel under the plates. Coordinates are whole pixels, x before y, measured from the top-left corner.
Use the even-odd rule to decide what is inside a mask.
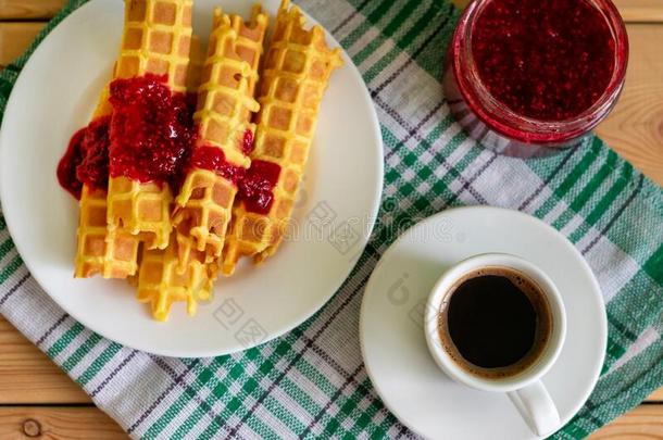
[[[0,110],[40,39],[0,74]],[[601,379],[554,437],[581,438],[663,385],[663,191],[600,139],[547,159],[499,156],[468,139],[438,83],[459,13],[440,0],[302,0],[363,74],[385,141],[383,213],[356,267],[307,323],[260,348],[166,359],[105,340],[30,277],[0,217],[0,313],[133,437],[414,437],[376,397],[362,365],[362,291],[396,238],[448,206],[492,204],[542,218],[583,252],[608,304]],[[387,216],[385,216],[387,218]],[[33,319],[39,316],[39,319]]]

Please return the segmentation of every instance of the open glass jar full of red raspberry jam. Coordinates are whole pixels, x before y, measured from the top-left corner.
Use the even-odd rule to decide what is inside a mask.
[[[447,56],[451,112],[474,139],[529,156],[577,144],[614,106],[628,39],[610,0],[475,0]]]

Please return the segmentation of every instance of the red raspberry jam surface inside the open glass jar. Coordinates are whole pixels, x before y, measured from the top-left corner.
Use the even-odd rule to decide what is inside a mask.
[[[584,0],[493,0],[477,16],[472,39],[488,92],[535,120],[577,116],[597,102],[614,71],[608,23]]]

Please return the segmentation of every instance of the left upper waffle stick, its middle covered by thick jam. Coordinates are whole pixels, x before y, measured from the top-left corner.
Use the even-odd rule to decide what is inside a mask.
[[[191,46],[191,0],[126,0],[118,78],[167,75],[173,92],[186,92]],[[171,234],[168,185],[127,177],[109,179],[110,230],[136,235],[148,248],[163,249]]]

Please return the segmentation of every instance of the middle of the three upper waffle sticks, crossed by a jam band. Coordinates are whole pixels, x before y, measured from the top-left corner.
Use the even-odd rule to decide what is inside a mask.
[[[260,7],[253,8],[248,23],[214,10],[193,115],[200,127],[197,147],[217,148],[229,164],[243,168],[249,166],[242,150],[245,134],[255,133],[250,117],[259,109],[253,91],[266,27],[267,15]],[[221,255],[236,192],[233,181],[213,171],[188,172],[173,214],[183,262],[192,249],[205,252],[208,261]]]

